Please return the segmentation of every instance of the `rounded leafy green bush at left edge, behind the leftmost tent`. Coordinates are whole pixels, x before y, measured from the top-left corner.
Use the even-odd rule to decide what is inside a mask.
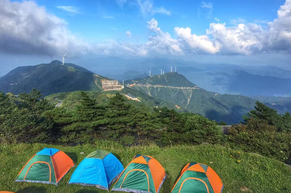
[[[43,142],[52,128],[52,122],[26,108],[13,110],[0,125],[3,143]]]

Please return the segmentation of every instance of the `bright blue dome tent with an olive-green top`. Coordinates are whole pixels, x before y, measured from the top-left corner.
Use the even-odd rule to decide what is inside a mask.
[[[81,161],[68,184],[95,186],[102,190],[109,190],[123,169],[123,165],[113,154],[97,150]]]

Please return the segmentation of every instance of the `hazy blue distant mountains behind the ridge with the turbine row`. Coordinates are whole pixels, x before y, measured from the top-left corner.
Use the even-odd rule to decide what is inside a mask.
[[[127,77],[144,78],[144,76],[136,76],[138,75],[136,71],[148,75],[147,72],[151,69],[151,74],[154,75],[160,74],[159,69],[163,68],[166,73],[173,65],[173,67],[177,66],[177,72],[183,74],[189,81],[209,91],[244,96],[291,97],[291,87],[289,86],[291,71],[270,65],[207,64],[158,57],[130,59],[101,57],[94,61],[94,64],[88,64],[86,68],[99,74],[114,74],[118,80],[121,77],[125,78],[123,74],[127,74]]]

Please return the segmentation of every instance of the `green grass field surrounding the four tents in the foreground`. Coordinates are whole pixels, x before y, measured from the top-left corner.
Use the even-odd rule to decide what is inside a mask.
[[[79,164],[86,155],[97,149],[112,152],[126,166],[135,154],[150,155],[166,170],[160,193],[170,193],[182,167],[189,162],[204,163],[212,167],[222,179],[224,193],[279,193],[291,192],[291,169],[279,161],[249,153],[237,153],[219,145],[177,145],[160,148],[156,145],[124,147],[110,141],[71,146],[47,144],[18,144],[0,146],[0,191],[17,193],[102,193],[104,190],[81,185],[68,185],[74,168],[64,176],[58,187],[50,184],[13,182],[26,161],[42,148],[57,148]],[[84,152],[81,155],[80,152]],[[239,157],[238,157],[239,156]],[[240,163],[237,162],[240,160]],[[213,162],[213,163],[210,163]],[[245,191],[242,191],[244,189]]]

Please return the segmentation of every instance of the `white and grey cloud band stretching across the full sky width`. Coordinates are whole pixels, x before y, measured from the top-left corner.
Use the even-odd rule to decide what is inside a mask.
[[[120,4],[125,0],[118,1]],[[140,1],[141,2],[141,1]],[[146,3],[148,2],[148,4]],[[151,1],[141,2],[146,14],[160,12]],[[203,4],[205,8],[211,4]],[[258,23],[242,23],[234,26],[226,23],[210,23],[204,35],[196,35],[189,27],[175,27],[171,34],[164,32],[158,21],[147,21],[152,35],[145,44],[129,44],[114,40],[90,45],[74,36],[67,23],[47,13],[44,7],[33,1],[0,1],[0,52],[20,54],[47,54],[70,52],[71,54],[95,53],[115,56],[188,55],[188,54],[243,54],[285,51],[291,52],[291,0],[286,0],[277,11],[277,18],[262,28]],[[130,34],[126,33],[128,36]]]

